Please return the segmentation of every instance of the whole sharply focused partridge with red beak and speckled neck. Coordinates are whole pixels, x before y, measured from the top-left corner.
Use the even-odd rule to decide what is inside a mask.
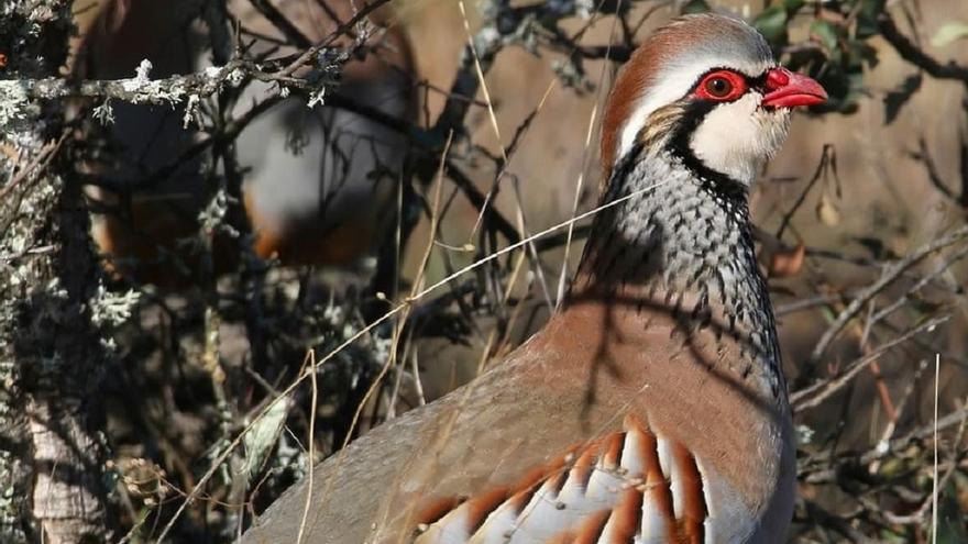
[[[679,19],[624,67],[563,309],[468,386],[315,469],[302,542],[777,543],[795,486],[747,189],[822,102],[762,37]],[[306,484],[244,542],[296,542]]]

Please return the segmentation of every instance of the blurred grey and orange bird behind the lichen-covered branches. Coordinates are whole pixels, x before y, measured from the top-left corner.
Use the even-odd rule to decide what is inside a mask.
[[[279,33],[248,1],[229,2],[226,9],[249,32]],[[284,1],[273,9],[296,21],[292,32],[310,44],[355,13],[348,0]],[[147,76],[157,79],[190,74],[219,57],[205,45],[207,31],[196,22],[204,2],[110,0],[90,11],[97,16],[81,24],[87,31],[74,62],[80,76],[128,78],[148,60]],[[385,21],[383,13],[374,14],[374,21]],[[343,36],[332,45],[350,42]],[[372,42],[378,44],[374,45],[378,54],[351,58],[342,67],[337,95],[409,122],[417,111],[409,40],[393,27],[374,30]],[[298,51],[264,41],[252,41],[246,48],[251,54]],[[222,114],[237,123],[255,104],[265,107],[254,121],[241,124],[234,141],[253,249],[262,258],[279,258],[287,265],[356,265],[375,253],[392,223],[391,197],[406,137],[346,109],[309,109],[305,98],[279,98],[277,92],[276,85],[245,81],[234,101],[220,106],[226,110]],[[186,115],[184,106],[121,102],[112,108],[114,119],[106,129],[112,153],[105,164],[88,165],[92,177],[106,186],[89,190],[102,211],[95,217],[94,240],[111,257],[116,271],[147,282],[191,286],[201,259],[198,248],[186,241],[198,234],[199,213],[216,190],[212,171],[220,173],[210,155],[189,153],[205,131]],[[172,165],[177,168],[170,169]],[[234,242],[217,236],[215,244],[216,271],[231,270],[239,253],[232,249]]]

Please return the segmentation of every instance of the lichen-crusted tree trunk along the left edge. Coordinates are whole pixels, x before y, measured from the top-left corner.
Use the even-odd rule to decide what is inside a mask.
[[[92,321],[99,268],[69,179],[64,107],[19,80],[58,75],[69,0],[0,2],[0,542],[106,542]]]

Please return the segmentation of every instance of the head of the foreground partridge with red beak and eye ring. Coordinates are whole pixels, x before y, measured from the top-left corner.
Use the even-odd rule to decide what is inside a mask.
[[[813,79],[780,67],[748,24],[682,18],[636,49],[615,82],[602,160],[610,168],[641,142],[749,185],[785,140],[791,108],[826,97]]]

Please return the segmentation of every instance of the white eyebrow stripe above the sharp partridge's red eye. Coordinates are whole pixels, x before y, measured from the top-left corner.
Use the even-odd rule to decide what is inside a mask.
[[[719,55],[701,58],[688,56],[673,60],[657,75],[656,81],[659,82],[637,99],[637,107],[622,127],[618,148],[612,157],[613,164],[631,151],[636,136],[646,125],[649,115],[659,108],[685,97],[703,74],[716,67],[729,67],[749,77],[757,77],[773,66],[772,60],[751,63]]]

